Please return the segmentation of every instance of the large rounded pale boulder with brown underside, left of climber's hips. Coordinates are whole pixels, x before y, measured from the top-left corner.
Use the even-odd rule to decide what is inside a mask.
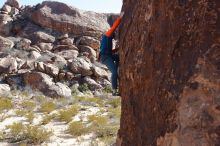
[[[82,76],[89,76],[93,73],[91,70],[91,62],[82,57],[73,59],[73,61],[69,63],[69,67],[73,73],[81,74]]]

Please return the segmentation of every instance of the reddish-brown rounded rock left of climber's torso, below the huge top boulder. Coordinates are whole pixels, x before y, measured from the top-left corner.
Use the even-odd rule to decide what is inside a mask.
[[[90,36],[83,36],[79,38],[76,42],[77,46],[78,45],[84,45],[84,46],[89,46],[92,47],[93,49],[99,49],[100,47],[100,41],[97,39],[94,39],[93,37]]]

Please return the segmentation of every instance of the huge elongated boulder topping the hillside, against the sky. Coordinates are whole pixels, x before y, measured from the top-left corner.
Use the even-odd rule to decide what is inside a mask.
[[[101,36],[109,28],[107,15],[81,11],[60,2],[45,1],[30,13],[36,24],[64,33]]]

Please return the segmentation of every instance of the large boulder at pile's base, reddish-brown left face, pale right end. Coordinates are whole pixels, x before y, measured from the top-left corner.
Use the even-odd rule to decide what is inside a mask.
[[[68,86],[62,83],[54,83],[52,78],[44,73],[25,73],[23,78],[26,86],[30,86],[33,90],[39,90],[52,98],[71,96],[71,90]]]

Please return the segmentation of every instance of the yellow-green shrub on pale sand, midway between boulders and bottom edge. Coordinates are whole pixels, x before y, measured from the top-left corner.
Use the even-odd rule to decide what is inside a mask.
[[[78,113],[79,108],[80,108],[79,106],[71,106],[68,109],[60,110],[58,113],[59,120],[67,123],[71,122],[72,117]]]

